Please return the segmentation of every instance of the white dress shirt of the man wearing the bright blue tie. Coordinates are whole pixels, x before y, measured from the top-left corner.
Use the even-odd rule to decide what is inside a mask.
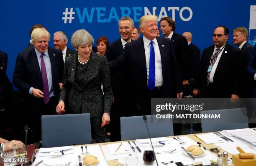
[[[156,83],[155,87],[160,87],[163,85],[163,74],[162,74],[162,62],[161,62],[161,54],[159,50],[159,46],[156,38],[152,40],[154,42],[154,50],[155,50],[155,74],[156,74]],[[147,83],[148,83],[148,74],[149,74],[149,58],[150,58],[150,40],[143,36],[145,55],[146,55],[146,67],[147,67]]]

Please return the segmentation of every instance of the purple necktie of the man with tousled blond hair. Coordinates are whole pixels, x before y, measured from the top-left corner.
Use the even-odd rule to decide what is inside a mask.
[[[48,86],[48,79],[47,79],[47,73],[46,73],[46,67],[44,64],[44,54],[41,54],[41,74],[43,79],[43,93],[44,93],[44,103],[47,104],[50,101],[50,95],[49,95],[49,86]]]

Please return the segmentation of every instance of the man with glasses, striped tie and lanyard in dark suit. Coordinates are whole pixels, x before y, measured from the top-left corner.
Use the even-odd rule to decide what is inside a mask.
[[[242,54],[227,43],[229,30],[217,26],[214,45],[204,49],[195,79],[193,94],[205,98],[238,99],[241,93]]]

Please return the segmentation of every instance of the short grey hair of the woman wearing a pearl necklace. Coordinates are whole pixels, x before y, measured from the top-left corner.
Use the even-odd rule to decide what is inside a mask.
[[[74,48],[86,43],[94,43],[94,39],[89,32],[85,31],[84,29],[79,29],[73,33],[71,37],[71,45]]]

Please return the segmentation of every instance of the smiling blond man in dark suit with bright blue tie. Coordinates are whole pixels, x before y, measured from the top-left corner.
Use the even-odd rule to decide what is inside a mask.
[[[140,38],[127,43],[110,70],[128,69],[128,107],[130,116],[151,115],[151,98],[181,98],[182,84],[172,41],[156,37],[157,17],[144,15],[140,19]]]

